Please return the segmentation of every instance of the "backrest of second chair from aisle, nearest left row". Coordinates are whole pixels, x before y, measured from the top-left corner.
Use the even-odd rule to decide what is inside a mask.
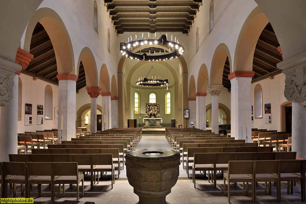
[[[27,162],[28,176],[52,176],[51,162]]]

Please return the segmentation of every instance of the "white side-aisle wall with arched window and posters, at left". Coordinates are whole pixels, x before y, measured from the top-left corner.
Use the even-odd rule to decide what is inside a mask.
[[[21,121],[18,121],[18,133],[24,131],[35,132],[36,130],[58,128],[58,124],[54,123],[54,107],[58,107],[58,86],[50,84],[43,80],[33,81],[33,77],[21,74],[20,79],[22,82],[22,104],[21,104]],[[52,100],[52,120],[43,121],[43,125],[37,125],[37,105],[44,106],[45,114],[45,88],[50,85],[53,92]],[[32,125],[24,125],[24,104],[32,104]],[[45,116],[45,115],[43,115]]]

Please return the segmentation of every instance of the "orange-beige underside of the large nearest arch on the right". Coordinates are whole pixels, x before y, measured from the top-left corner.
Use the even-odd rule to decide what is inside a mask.
[[[233,71],[253,71],[256,44],[263,28],[268,23],[267,16],[259,6],[252,10],[245,20],[238,37]]]

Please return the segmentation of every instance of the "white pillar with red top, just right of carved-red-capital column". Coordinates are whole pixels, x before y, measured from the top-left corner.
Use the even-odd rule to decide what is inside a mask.
[[[102,130],[111,128],[111,93],[101,93],[102,96]]]

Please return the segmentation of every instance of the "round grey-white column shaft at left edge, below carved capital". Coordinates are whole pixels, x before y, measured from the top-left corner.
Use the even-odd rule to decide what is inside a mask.
[[[9,161],[9,154],[17,154],[18,75],[9,79],[7,84],[12,82],[12,99],[8,105],[2,106],[0,111],[0,161],[2,162]]]

